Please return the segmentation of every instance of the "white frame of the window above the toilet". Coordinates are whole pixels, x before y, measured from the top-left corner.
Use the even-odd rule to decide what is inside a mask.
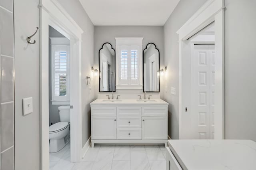
[[[51,39],[51,94],[52,94],[52,105],[70,105],[70,41],[68,38],[50,38]],[[67,51],[67,69],[66,71],[55,70],[55,51],[56,47],[64,47]],[[65,96],[55,96],[55,74],[66,73],[66,89],[67,93]]]

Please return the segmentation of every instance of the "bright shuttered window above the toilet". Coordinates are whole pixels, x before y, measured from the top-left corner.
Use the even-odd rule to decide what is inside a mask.
[[[69,49],[69,45],[52,44],[52,105],[69,104]]]

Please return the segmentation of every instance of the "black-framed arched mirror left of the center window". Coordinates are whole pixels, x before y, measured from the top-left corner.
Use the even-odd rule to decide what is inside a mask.
[[[116,51],[110,43],[104,43],[99,51],[100,92],[116,91]]]

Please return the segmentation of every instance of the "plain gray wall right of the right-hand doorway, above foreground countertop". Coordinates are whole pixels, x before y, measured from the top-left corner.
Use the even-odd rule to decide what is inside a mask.
[[[256,1],[225,6],[225,138],[256,141]]]

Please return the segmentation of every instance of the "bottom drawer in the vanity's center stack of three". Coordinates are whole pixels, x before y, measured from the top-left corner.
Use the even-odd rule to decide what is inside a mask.
[[[117,128],[117,139],[140,140],[141,128]]]

